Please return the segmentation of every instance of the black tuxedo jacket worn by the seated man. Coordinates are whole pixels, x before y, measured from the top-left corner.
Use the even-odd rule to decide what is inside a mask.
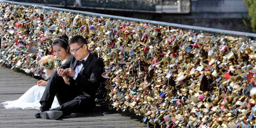
[[[71,55],[66,63],[62,64],[60,68],[72,68],[75,70],[76,66],[77,60],[73,55]],[[77,78],[74,80],[73,77],[68,77],[69,85],[79,86],[83,92],[94,98],[95,93],[102,81],[103,68],[103,61],[89,53],[89,56],[84,62],[81,71],[78,73]]]

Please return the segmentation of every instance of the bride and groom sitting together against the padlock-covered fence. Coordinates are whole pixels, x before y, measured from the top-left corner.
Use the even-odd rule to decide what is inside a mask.
[[[62,64],[48,82],[40,80],[19,99],[3,102],[5,108],[38,109],[36,118],[58,119],[95,107],[95,94],[102,82],[103,62],[89,53],[87,40],[80,35],[69,41],[65,34],[58,36],[52,45]]]

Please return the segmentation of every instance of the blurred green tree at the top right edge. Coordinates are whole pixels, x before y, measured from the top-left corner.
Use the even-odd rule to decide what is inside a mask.
[[[256,33],[256,0],[244,0],[248,7],[247,19],[243,23],[249,28],[251,33]]]

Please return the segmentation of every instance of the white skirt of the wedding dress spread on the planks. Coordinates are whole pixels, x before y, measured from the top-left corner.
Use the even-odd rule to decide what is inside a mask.
[[[7,101],[2,102],[1,104],[4,105],[7,109],[35,109],[38,110],[41,104],[39,103],[43,93],[44,93],[45,86],[38,86],[35,85],[29,90],[26,91],[19,99],[14,101]],[[53,104],[51,108],[56,108],[60,106],[56,96],[54,97]]]

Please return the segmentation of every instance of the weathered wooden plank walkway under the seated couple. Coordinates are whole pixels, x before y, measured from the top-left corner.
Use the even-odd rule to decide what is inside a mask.
[[[24,73],[0,67],[0,102],[18,99],[29,88],[37,83]],[[0,104],[0,127],[84,127],[84,128],[140,128],[147,127],[141,123],[141,117],[118,113],[106,107],[97,106],[90,113],[71,114],[62,119],[37,119],[37,110],[6,109]]]

